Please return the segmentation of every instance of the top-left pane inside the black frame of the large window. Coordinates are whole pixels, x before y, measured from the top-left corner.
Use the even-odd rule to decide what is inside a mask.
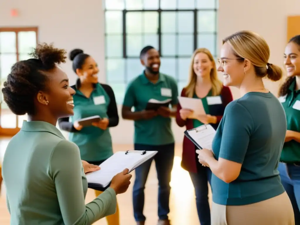
[[[140,34],[142,33],[142,13],[128,12],[126,13],[126,33]]]

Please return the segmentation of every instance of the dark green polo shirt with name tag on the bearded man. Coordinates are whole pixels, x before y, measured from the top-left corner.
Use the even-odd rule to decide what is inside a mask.
[[[160,73],[157,83],[152,83],[144,73],[133,79],[127,87],[123,105],[142,111],[150,99],[164,101],[172,98],[172,105],[178,103],[178,88],[175,79]],[[171,118],[156,116],[150,120],[134,121],[134,143],[165,145],[174,143]]]

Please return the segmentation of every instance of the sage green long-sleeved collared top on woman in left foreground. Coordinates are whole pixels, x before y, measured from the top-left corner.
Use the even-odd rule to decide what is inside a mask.
[[[23,122],[2,165],[11,225],[83,225],[116,212],[108,188],[85,205],[88,184],[79,148],[47,122]]]

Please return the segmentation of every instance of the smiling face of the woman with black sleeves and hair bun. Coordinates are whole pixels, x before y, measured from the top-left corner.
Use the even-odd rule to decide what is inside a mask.
[[[98,64],[89,56],[85,59],[82,68],[76,70],[81,83],[98,83]]]

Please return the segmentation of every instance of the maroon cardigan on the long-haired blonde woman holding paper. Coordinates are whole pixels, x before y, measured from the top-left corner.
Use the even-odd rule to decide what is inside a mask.
[[[182,97],[186,97],[185,95],[185,88],[182,89],[181,92]],[[231,102],[232,94],[228,87],[223,86],[221,93],[220,93],[222,104],[220,105],[214,105],[214,106],[208,106],[209,107],[209,114],[211,116],[217,117],[217,123],[211,124],[211,126],[214,129],[217,129],[223,114],[226,105]],[[177,113],[176,113],[176,123],[179,127],[185,126],[187,130],[193,129],[193,120],[187,119],[183,120],[180,117],[179,111],[181,110],[181,105],[178,104],[177,106]],[[182,148],[182,161],[181,166],[184,170],[187,170],[188,172],[197,173],[197,166],[196,166],[196,151],[195,151],[195,145],[186,137],[183,138],[183,148]]]

